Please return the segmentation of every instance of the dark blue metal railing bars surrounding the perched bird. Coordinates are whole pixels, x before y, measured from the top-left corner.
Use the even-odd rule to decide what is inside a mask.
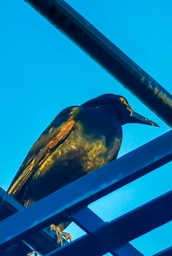
[[[27,0],[95,61],[130,89],[151,110],[172,126],[172,97],[160,84],[82,18],[63,0]],[[101,53],[101,54],[100,54]],[[24,208],[0,190],[0,255],[26,255],[33,248],[41,255],[142,255],[129,241],[172,219],[172,191],[133,211],[103,222],[87,208],[89,203],[136,180],[172,160],[172,131],[136,148],[42,200]],[[158,150],[157,150],[158,148]],[[135,161],[133,161],[135,159]],[[115,170],[115,172],[114,172]],[[78,192],[79,191],[79,192]],[[46,207],[44,207],[46,206]],[[150,218],[154,216],[154,218]],[[7,218],[5,218],[7,217]],[[70,219],[86,235],[59,247],[45,227]],[[88,221],[89,220],[89,221]],[[111,236],[108,236],[108,234]],[[168,248],[157,255],[172,255]]]

